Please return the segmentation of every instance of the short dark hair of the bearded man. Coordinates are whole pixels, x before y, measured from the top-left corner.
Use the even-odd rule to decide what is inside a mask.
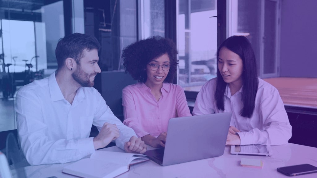
[[[88,51],[97,49],[100,51],[100,48],[98,40],[91,35],[74,33],[61,38],[55,49],[57,70],[60,70],[64,66],[67,58],[73,58],[79,64],[80,59],[83,57],[82,52],[84,49]]]

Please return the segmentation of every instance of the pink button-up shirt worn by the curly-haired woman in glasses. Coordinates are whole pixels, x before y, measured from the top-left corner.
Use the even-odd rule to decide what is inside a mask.
[[[122,90],[123,123],[133,128],[139,137],[159,136],[167,131],[170,118],[191,116],[181,86],[163,83],[161,92],[157,101],[144,83],[129,85]]]

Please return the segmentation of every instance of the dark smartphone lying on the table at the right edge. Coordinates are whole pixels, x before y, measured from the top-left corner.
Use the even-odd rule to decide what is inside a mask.
[[[295,176],[302,174],[317,173],[317,167],[311,164],[299,164],[294,166],[280,167],[277,168],[277,171],[288,176]]]

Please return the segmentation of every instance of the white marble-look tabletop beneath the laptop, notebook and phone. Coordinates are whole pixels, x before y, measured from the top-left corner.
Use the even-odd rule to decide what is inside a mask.
[[[104,150],[107,151],[122,151],[122,149],[114,146]],[[130,170],[118,178],[193,178],[193,177],[257,177],[257,178],[274,178],[284,177],[276,171],[277,167],[290,166],[295,164],[312,164],[317,166],[317,148],[308,147],[288,143],[286,145],[272,146],[273,156],[242,156],[231,155],[230,147],[226,146],[223,156],[175,164],[171,166],[160,166],[153,161],[147,161],[131,166]],[[240,165],[241,158],[260,159],[263,163],[263,168],[248,168]],[[74,178],[75,176],[62,173],[65,164],[50,164],[39,166],[28,166],[25,168],[27,177],[39,178],[56,176],[58,178]],[[296,176],[297,177],[297,176]],[[299,178],[316,178],[317,173],[300,175]]]

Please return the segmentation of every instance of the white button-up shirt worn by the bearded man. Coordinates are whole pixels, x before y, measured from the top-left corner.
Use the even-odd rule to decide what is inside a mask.
[[[76,161],[92,154],[92,124],[98,130],[105,122],[116,124],[123,149],[136,136],[116,118],[100,93],[93,87],[78,88],[72,105],[64,99],[55,73],[23,86],[16,95],[16,121],[23,153],[30,164]]]

